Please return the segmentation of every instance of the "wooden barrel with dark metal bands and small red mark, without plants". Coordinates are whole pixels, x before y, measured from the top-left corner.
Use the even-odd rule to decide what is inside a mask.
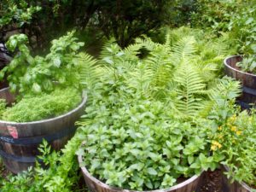
[[[11,103],[15,96],[9,88],[0,90],[0,98]],[[76,131],[75,121],[84,113],[86,96],[72,111],[52,119],[15,123],[0,120],[0,154],[9,171],[18,173],[34,166],[43,139],[55,150],[61,149]]]

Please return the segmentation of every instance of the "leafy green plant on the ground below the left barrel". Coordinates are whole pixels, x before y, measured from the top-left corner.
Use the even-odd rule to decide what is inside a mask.
[[[75,150],[79,147],[81,134],[76,133],[61,152],[50,149],[44,141],[39,148],[38,157],[49,168],[44,169],[38,163],[35,169],[29,168],[18,175],[10,175],[0,182],[1,191],[8,192],[79,192],[87,191],[79,184],[79,165],[76,161]]]

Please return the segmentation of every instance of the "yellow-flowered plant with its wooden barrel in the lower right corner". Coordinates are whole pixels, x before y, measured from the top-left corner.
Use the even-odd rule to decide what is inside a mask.
[[[213,155],[224,155],[223,186],[228,192],[256,190],[255,111],[234,113],[212,135]],[[221,148],[217,147],[217,144]]]

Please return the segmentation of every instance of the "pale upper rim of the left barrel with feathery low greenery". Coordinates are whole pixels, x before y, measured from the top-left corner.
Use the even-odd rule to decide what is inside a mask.
[[[4,88],[2,90],[9,90],[9,87],[7,88]],[[1,91],[1,90],[0,90]],[[84,108],[84,105],[87,101],[87,94],[85,91],[83,91],[82,93],[82,102],[80,102],[79,106],[77,106],[76,108],[73,108],[71,111],[67,112],[67,113],[64,113],[64,114],[61,114],[57,117],[54,117],[54,118],[49,118],[49,119],[43,119],[43,120],[36,120],[36,121],[29,121],[29,122],[15,122],[15,121],[5,121],[5,120],[1,120],[0,119],[0,124],[9,124],[9,125],[35,125],[35,124],[42,124],[42,123],[46,123],[46,122],[52,122],[52,121],[55,121],[57,119],[63,119],[67,116],[69,116],[70,114],[72,113],[76,113],[78,112],[81,108]]]

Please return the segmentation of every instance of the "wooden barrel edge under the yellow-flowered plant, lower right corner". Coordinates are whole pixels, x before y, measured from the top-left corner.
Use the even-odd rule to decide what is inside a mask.
[[[223,167],[224,172],[227,172],[228,170],[229,168],[227,166]],[[246,183],[230,183],[230,179],[228,179],[224,174],[222,176],[222,183],[223,191],[225,192],[253,192],[253,189],[249,187]]]

